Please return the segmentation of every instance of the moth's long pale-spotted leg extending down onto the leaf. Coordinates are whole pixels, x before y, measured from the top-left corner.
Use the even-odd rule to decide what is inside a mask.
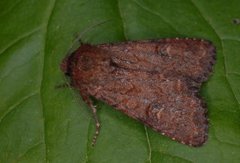
[[[99,132],[100,132],[100,122],[99,122],[98,116],[97,116],[97,109],[93,105],[92,100],[88,96],[85,96],[84,101],[88,104],[89,108],[91,109],[91,111],[93,113],[93,118],[94,118],[94,121],[95,121],[95,128],[96,129],[95,129],[95,134],[94,134],[93,139],[92,139],[92,146],[94,146],[96,144],[97,137],[98,137]]]

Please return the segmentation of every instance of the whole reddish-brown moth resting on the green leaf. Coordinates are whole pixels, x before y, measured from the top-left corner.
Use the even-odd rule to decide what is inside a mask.
[[[212,72],[215,48],[198,39],[161,39],[82,44],[61,68],[100,123],[90,96],[153,130],[190,146],[207,140],[201,84]]]

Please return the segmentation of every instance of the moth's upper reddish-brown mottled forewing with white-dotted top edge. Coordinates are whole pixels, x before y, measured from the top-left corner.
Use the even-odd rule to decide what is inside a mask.
[[[196,39],[161,39],[98,47],[113,52],[113,62],[119,67],[184,75],[196,82],[207,79],[215,63],[215,47]]]

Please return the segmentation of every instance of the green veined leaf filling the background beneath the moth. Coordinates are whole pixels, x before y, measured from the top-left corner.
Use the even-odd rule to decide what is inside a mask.
[[[0,162],[238,162],[240,1],[1,0]],[[104,22],[104,23],[103,23]],[[91,147],[91,112],[59,65],[76,35],[91,44],[196,37],[217,47],[201,94],[209,139],[188,147],[97,102],[102,128]]]

